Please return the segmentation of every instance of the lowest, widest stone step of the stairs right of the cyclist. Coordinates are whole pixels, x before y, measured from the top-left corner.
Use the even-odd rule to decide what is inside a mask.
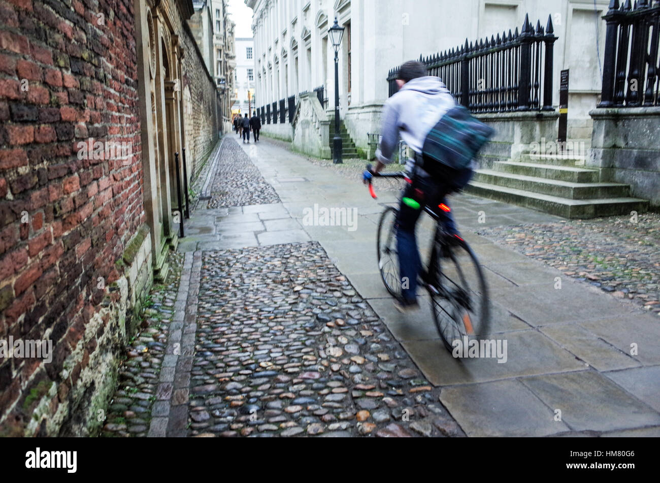
[[[644,199],[628,197],[574,200],[479,181],[470,181],[465,191],[570,219],[630,214],[633,210],[645,212],[649,205]]]

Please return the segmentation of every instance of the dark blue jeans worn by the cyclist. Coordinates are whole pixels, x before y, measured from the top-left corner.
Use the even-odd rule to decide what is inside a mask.
[[[438,209],[440,203],[447,204],[445,195],[455,189],[463,187],[472,177],[472,170],[465,170],[452,180],[452,183],[438,181],[430,177],[416,176],[413,183],[409,184],[403,192],[402,198],[412,198],[419,203],[419,208],[413,208],[406,205],[403,201],[399,204],[399,214],[397,216],[397,253],[399,254],[399,275],[401,276],[402,286],[401,295],[405,303],[414,302],[416,299],[417,276],[422,270],[422,260],[420,259],[415,237],[415,226],[420,214],[424,211],[425,205],[436,207],[436,212],[440,216],[440,222],[444,224],[449,233],[457,233],[456,224],[451,216],[451,211],[445,212]],[[406,283],[407,282],[407,283]]]

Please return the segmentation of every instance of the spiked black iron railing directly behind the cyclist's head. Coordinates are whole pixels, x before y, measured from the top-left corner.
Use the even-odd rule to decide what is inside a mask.
[[[420,56],[428,75],[440,77],[456,101],[472,112],[553,110],[552,57],[554,36],[548,16],[546,28],[536,29],[525,15],[520,33],[491,36],[458,48]],[[389,71],[389,95],[397,92],[399,67]]]

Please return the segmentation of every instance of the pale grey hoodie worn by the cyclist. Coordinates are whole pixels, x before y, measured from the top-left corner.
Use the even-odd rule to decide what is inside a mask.
[[[426,135],[453,106],[454,98],[440,77],[418,77],[403,84],[383,105],[383,137],[376,159],[384,164],[392,162],[399,134],[415,152],[421,153]],[[407,169],[412,170],[412,166],[413,160],[408,160]]]

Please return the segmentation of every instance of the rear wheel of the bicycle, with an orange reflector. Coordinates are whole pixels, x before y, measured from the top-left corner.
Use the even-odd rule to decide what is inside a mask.
[[[488,288],[479,261],[463,240],[447,247],[436,244],[434,283],[429,287],[436,328],[447,350],[453,342],[461,344],[481,339],[488,333],[490,309]]]

